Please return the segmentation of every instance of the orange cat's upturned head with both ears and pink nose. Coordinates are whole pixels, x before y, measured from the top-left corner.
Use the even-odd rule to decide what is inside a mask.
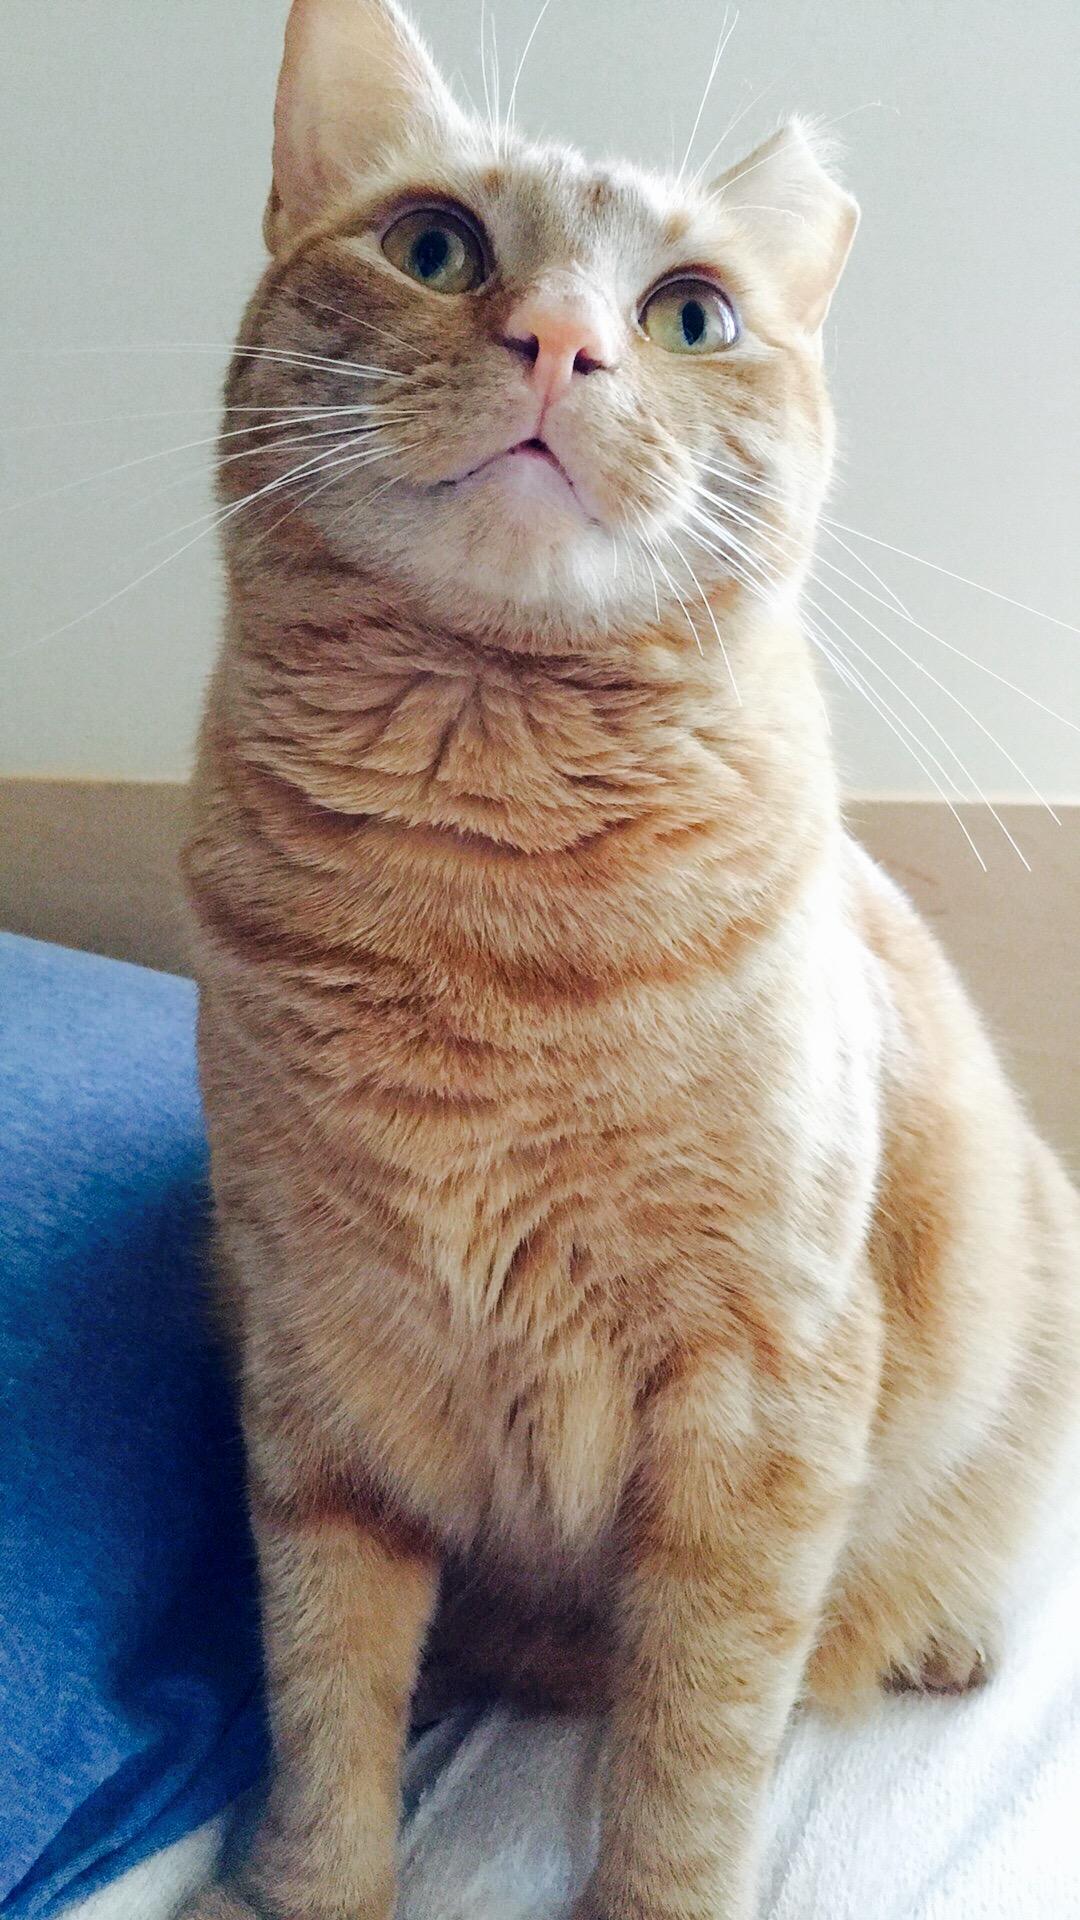
[[[467,115],[390,0],[294,0],[275,125],[231,497],[450,622],[709,634],[798,574],[857,221],[801,125],[713,182],[592,167]]]

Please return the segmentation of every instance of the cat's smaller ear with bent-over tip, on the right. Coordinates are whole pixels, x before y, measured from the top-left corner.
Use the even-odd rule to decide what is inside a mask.
[[[811,334],[828,313],[859,225],[859,205],[828,171],[828,157],[821,134],[788,121],[711,188],[761,248]]]

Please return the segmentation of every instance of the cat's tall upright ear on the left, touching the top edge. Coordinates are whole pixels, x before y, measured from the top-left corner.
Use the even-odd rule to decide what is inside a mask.
[[[263,234],[279,252],[379,159],[463,115],[394,0],[292,0]]]

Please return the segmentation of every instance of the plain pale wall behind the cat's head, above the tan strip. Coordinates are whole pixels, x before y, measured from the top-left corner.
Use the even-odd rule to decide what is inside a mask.
[[[536,8],[490,0],[503,92]],[[415,13],[479,94],[479,0]],[[4,0],[0,505],[211,434],[261,257],[282,17],[284,0]],[[680,154],[721,21],[719,6],[552,0],[519,117],[592,152]],[[846,440],[834,513],[1074,620],[1078,75],[1076,0],[749,0],[700,140],[703,154],[763,88],[732,157],[782,109],[842,121],[865,225],[828,346]],[[117,413],[171,417],[37,430]],[[123,589],[198,534],[206,468],[190,447],[0,516],[0,772],[183,776],[215,641],[211,541]],[[926,626],[1080,722],[1080,637],[865,553]],[[1032,780],[1076,793],[1076,733],[865,607]],[[1026,791],[899,653],[853,630],[984,785]],[[853,783],[928,785],[865,708],[838,712]]]

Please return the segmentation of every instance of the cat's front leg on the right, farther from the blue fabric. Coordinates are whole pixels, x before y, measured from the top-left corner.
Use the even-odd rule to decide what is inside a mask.
[[[863,1467],[851,1346],[798,1379],[715,1356],[648,1404],[600,1864],[575,1920],[755,1914],[761,1799]]]

